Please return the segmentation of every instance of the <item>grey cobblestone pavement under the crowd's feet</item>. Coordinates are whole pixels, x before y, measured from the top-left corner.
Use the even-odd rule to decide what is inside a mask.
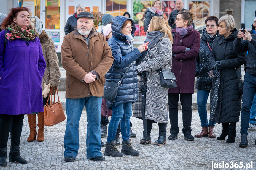
[[[201,123],[198,116],[198,111],[192,113],[192,135],[201,131]],[[209,117],[209,115],[208,115]],[[110,118],[109,118],[110,120]],[[66,121],[61,122],[53,127],[45,127],[44,142],[27,142],[29,136],[29,125],[27,116],[24,118],[23,129],[20,140],[20,154],[23,158],[28,160],[28,164],[9,163],[7,160],[6,167],[0,167],[7,170],[32,169],[32,170],[64,170],[64,169],[195,169],[206,170],[212,169],[213,163],[234,163],[238,161],[251,163],[253,161],[253,168],[256,169],[255,148],[254,145],[256,131],[249,131],[247,148],[239,148],[241,139],[240,122],[237,123],[236,128],[236,142],[227,144],[225,141],[218,141],[216,138],[195,138],[194,141],[186,141],[182,134],[182,112],[179,111],[179,127],[180,132],[177,140],[168,140],[167,144],[163,146],[140,145],[139,141],[142,137],[142,121],[137,118],[131,118],[133,123],[133,132],[137,134],[136,138],[131,138],[136,150],[140,152],[139,156],[125,155],[122,158],[115,158],[105,156],[106,162],[95,162],[86,158],[86,111],[83,111],[79,123],[79,137],[80,148],[76,160],[72,163],[64,161],[63,152],[63,138],[65,133]],[[170,135],[170,124],[167,124],[166,137]],[[221,134],[222,125],[217,124],[214,128],[216,136]],[[106,138],[101,138],[106,142]],[[158,125],[153,124],[151,139],[152,143],[158,138]],[[227,139],[227,137],[226,137]],[[8,151],[10,147],[10,139],[8,141]],[[105,148],[101,152],[104,154]],[[119,148],[121,151],[121,147]],[[8,154],[7,154],[8,156]],[[213,168],[214,169],[214,168]],[[219,168],[217,168],[219,169]],[[229,169],[229,168],[221,168]],[[233,168],[234,169],[234,168]],[[246,169],[246,168],[237,168]]]

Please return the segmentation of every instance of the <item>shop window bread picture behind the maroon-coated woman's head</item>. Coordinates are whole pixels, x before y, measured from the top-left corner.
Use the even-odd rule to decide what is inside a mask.
[[[210,1],[188,1],[189,10],[194,12],[197,19],[195,29],[205,27],[205,20],[210,16]]]

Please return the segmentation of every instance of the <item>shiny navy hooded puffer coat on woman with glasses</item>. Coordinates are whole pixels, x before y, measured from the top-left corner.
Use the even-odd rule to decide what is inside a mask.
[[[117,91],[117,97],[113,101],[107,101],[108,109],[111,109],[113,103],[115,106],[121,103],[135,102],[138,99],[137,95],[137,62],[141,62],[143,58],[137,48],[127,41],[124,34],[121,33],[121,28],[126,20],[130,20],[133,25],[133,20],[124,16],[116,16],[112,20],[111,29],[112,37],[108,40],[108,45],[111,47],[114,62],[105,75],[106,81],[118,83],[123,77],[126,69],[130,67]],[[133,36],[132,30],[131,35]]]

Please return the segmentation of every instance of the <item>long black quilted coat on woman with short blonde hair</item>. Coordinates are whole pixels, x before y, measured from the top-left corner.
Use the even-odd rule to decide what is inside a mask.
[[[241,110],[242,96],[238,94],[238,76],[236,67],[245,63],[245,53],[236,54],[233,52],[233,42],[238,34],[234,29],[232,34],[225,38],[218,35],[213,43],[210,54],[211,69],[216,61],[221,61],[222,69],[220,73],[220,85],[218,89],[218,102],[212,121],[217,123],[238,122]],[[215,89],[216,78],[213,78],[211,89],[211,100]]]

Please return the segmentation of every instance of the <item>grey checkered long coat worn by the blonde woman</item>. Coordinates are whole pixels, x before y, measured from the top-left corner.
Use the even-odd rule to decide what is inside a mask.
[[[150,59],[150,55],[152,59]],[[168,37],[158,41],[147,53],[145,59],[137,66],[139,72],[148,71],[146,79],[147,95],[145,118],[157,123],[168,123],[168,111],[166,100],[168,88],[160,85],[160,76],[157,72],[162,68],[163,71],[171,71],[172,64],[172,45]],[[142,117],[141,104],[142,96],[140,87],[143,84],[143,78],[138,82],[138,101],[133,106],[133,117]]]

